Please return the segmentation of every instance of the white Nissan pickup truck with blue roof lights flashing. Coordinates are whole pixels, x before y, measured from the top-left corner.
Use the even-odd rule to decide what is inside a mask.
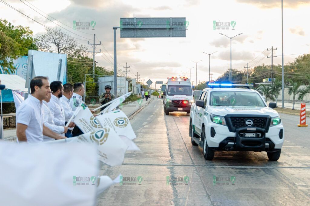
[[[189,136],[203,148],[206,160],[215,151],[266,151],[277,161],[284,142],[284,128],[274,102],[269,107],[251,85],[209,84],[191,105]],[[215,87],[219,88],[215,88]],[[226,87],[226,88],[225,88]],[[235,88],[247,87],[247,88]]]

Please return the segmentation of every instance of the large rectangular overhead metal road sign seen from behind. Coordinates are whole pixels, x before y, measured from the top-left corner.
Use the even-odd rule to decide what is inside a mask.
[[[121,38],[186,37],[189,22],[181,18],[121,18]]]

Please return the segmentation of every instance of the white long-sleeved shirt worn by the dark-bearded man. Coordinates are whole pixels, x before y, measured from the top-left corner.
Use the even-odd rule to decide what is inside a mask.
[[[60,98],[52,94],[50,102],[47,103],[52,115],[54,116],[54,123],[58,126],[65,126],[64,109],[61,106]]]

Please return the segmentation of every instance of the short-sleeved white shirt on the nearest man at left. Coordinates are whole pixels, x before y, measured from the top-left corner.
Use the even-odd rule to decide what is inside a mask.
[[[16,111],[16,123],[27,125],[25,131],[28,143],[43,142],[43,106],[42,102],[31,94]]]

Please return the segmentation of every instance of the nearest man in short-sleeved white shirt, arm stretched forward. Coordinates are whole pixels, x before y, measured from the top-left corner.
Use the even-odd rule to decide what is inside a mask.
[[[16,136],[19,142],[40,143],[43,135],[54,139],[65,137],[56,134],[43,124],[42,100],[51,92],[47,77],[37,76],[30,81],[31,94],[16,111]]]

